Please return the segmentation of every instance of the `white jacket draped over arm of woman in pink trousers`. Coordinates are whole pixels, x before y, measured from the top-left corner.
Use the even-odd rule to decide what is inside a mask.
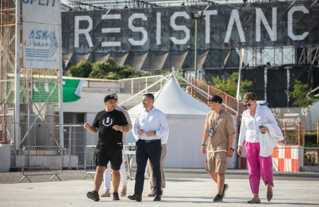
[[[266,126],[269,131],[266,131],[265,134],[262,134],[261,131],[259,132],[259,155],[268,157],[271,155],[274,147],[278,145],[277,141],[284,140],[284,136],[282,135],[277,122],[265,124],[264,126]]]

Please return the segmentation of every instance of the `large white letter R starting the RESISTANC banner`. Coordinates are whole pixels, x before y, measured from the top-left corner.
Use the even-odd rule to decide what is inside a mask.
[[[79,29],[79,22],[80,21],[87,21],[89,23],[89,26],[86,29]],[[89,35],[89,32],[92,30],[93,27],[93,21],[90,16],[75,16],[74,17],[74,47],[79,47],[79,34],[84,34],[85,38],[87,40],[87,43],[89,43],[89,47],[93,47],[92,39]]]

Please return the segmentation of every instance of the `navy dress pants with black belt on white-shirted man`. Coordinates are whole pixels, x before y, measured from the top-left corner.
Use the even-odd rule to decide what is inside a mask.
[[[162,154],[162,146],[160,139],[155,142],[144,142],[138,139],[136,142],[136,165],[137,171],[135,176],[134,194],[142,196],[144,187],[144,174],[147,159],[150,159],[153,169],[154,192],[155,195],[161,195],[161,173],[160,173],[160,157]],[[150,178],[152,179],[152,178]]]

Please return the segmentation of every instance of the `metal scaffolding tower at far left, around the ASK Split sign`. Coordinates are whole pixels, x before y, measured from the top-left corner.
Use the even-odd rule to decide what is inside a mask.
[[[1,128],[6,143],[11,144],[14,155],[21,154],[24,146],[42,141],[36,140],[36,128],[49,122],[57,127],[47,127],[46,137],[41,139],[54,139],[53,145],[63,145],[59,139],[63,135],[61,70],[23,67],[21,0],[1,0],[0,14],[0,114],[6,117],[6,128]]]

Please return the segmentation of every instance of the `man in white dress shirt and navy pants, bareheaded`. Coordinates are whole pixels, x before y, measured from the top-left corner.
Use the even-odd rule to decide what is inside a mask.
[[[147,159],[150,159],[153,169],[154,192],[156,195],[153,201],[160,201],[162,194],[160,172],[161,138],[168,136],[169,129],[165,114],[155,108],[153,102],[154,96],[152,93],[144,94],[142,104],[145,110],[137,113],[134,124],[134,133],[139,138],[136,142],[137,171],[134,195],[128,196],[128,198],[138,202],[142,201]]]

